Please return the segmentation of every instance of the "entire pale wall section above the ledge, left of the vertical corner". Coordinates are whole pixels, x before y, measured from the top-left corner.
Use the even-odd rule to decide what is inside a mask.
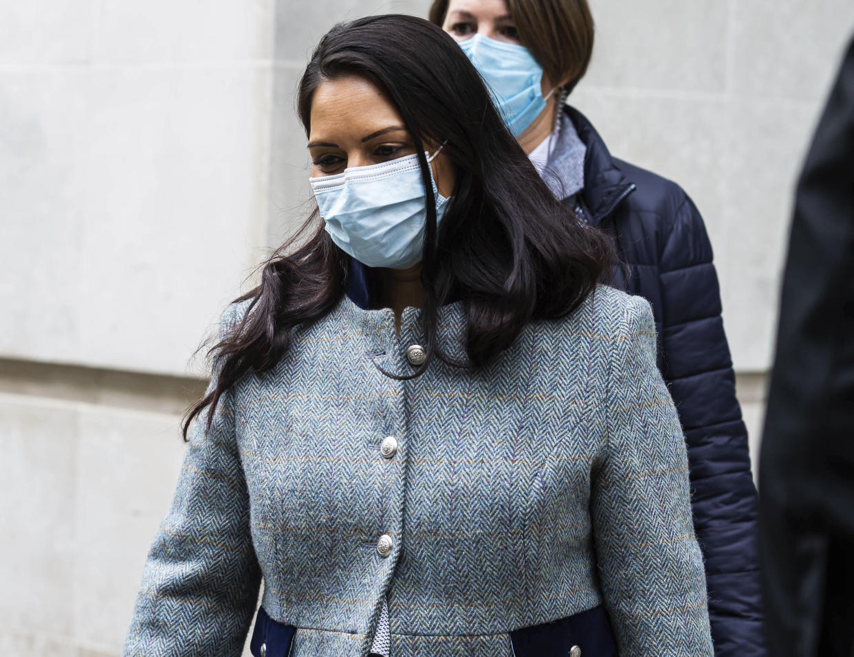
[[[0,354],[184,374],[264,252],[273,14],[0,8]]]

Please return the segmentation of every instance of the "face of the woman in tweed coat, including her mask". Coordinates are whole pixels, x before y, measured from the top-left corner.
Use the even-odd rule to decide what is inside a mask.
[[[336,245],[369,267],[418,265],[428,192],[395,106],[365,78],[329,80],[315,92],[309,140],[314,198]],[[442,144],[427,146],[438,224],[453,190],[453,170]]]

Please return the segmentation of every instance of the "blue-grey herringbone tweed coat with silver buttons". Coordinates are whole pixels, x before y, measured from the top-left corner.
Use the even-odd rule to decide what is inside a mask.
[[[366,655],[383,596],[392,657],[511,657],[509,631],[600,604],[623,657],[711,655],[646,300],[598,288],[484,369],[436,360],[400,381],[418,312],[395,334],[392,311],[342,298],[196,424],[125,654],[239,655],[263,576],[293,657]],[[440,331],[465,360],[462,303]]]

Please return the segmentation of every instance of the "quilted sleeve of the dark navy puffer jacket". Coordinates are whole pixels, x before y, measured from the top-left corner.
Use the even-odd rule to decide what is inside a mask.
[[[663,374],[679,411],[717,657],[766,654],[757,493],[703,219],[682,195],[659,259]]]

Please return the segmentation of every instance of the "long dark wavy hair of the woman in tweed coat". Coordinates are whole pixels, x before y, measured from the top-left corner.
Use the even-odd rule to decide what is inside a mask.
[[[406,15],[333,27],[299,86],[298,112],[307,135],[319,84],[347,76],[369,80],[395,104],[421,166],[427,196],[421,273],[427,359],[412,376],[421,375],[432,358],[449,362],[437,346],[436,324],[438,308],[450,301],[465,304],[466,348],[477,368],[510,346],[526,323],[564,317],[594,291],[610,271],[610,242],[554,198],[453,38]],[[424,151],[442,143],[456,182],[437,230]],[[347,286],[349,258],[331,241],[316,210],[272,254],[260,285],[236,299],[250,300],[243,318],[209,352],[217,375],[188,410],[184,437],[190,422],[208,406],[215,410],[235,382],[272,369],[297,324],[329,313]],[[209,412],[208,427],[212,420]]]

